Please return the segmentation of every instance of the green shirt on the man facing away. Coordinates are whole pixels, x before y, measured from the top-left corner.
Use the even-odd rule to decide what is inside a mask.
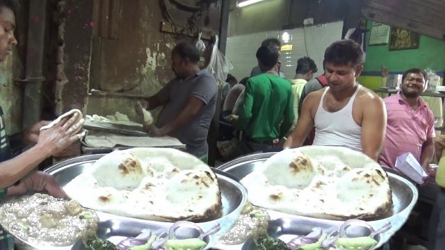
[[[273,140],[286,135],[293,122],[291,83],[264,73],[249,78],[238,128],[254,140]]]

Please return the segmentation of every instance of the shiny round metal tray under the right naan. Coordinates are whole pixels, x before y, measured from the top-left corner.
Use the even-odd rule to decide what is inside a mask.
[[[250,174],[252,171],[254,171],[254,169],[262,165],[267,158],[270,158],[270,156],[273,156],[275,153],[276,152],[257,153],[250,156],[244,156],[232,160],[229,163],[225,163],[224,165],[218,167],[218,169],[232,174],[233,176],[241,180],[244,176]],[[382,217],[375,218],[372,221],[369,221],[369,224],[371,224],[373,228],[380,228],[389,221],[391,222],[392,227],[389,231],[380,235],[380,241],[375,248],[381,247],[382,244],[385,244],[385,242],[387,242],[389,238],[391,238],[391,236],[394,235],[394,233],[396,233],[396,231],[398,231],[403,226],[403,224],[405,224],[408,216],[411,213],[412,208],[414,208],[414,205],[416,204],[417,198],[419,197],[416,187],[410,181],[407,181],[407,179],[391,172],[388,173],[388,176],[389,184],[392,189],[392,211],[388,215],[384,215]],[[305,220],[314,224],[330,224],[332,226],[340,226],[341,224],[343,224],[342,221],[289,215],[273,210],[268,210],[268,213],[270,214],[270,219],[291,217],[294,219]],[[220,244],[217,247],[219,249],[251,249],[247,245],[225,246]]]

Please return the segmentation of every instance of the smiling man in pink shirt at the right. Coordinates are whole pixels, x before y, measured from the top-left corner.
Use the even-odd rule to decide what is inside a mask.
[[[423,70],[408,69],[402,76],[401,91],[384,99],[388,121],[381,165],[394,168],[396,158],[410,152],[427,172],[435,138],[434,115],[420,98],[427,80]]]

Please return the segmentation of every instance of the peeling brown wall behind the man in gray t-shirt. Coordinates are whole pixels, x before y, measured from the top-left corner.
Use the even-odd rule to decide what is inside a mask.
[[[191,12],[177,10],[171,5],[167,7],[175,23],[186,25]],[[210,18],[206,28],[218,32],[220,4],[212,4],[204,15]],[[159,1],[120,1],[117,18],[118,39],[101,38],[99,46],[94,46],[100,51],[94,51],[93,55],[100,56],[100,60],[92,64],[91,72],[99,76],[94,80],[99,83],[92,85],[104,91],[152,96],[174,76],[170,53],[175,44],[192,39],[161,33],[160,23],[165,19]],[[119,111],[134,120],[135,103],[132,99],[90,96],[87,113],[109,115]]]

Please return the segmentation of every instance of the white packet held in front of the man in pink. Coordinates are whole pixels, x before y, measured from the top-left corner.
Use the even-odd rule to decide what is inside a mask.
[[[396,159],[396,169],[408,176],[412,181],[423,184],[428,178],[428,174],[423,171],[422,166],[414,158],[412,153],[404,153]]]

